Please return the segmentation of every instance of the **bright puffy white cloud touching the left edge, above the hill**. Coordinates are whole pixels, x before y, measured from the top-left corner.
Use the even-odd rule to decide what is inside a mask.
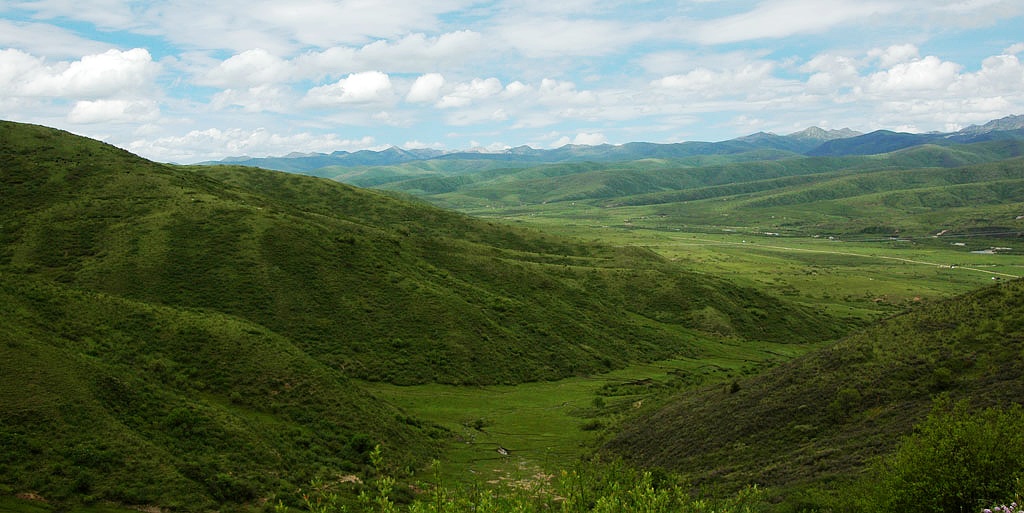
[[[159,68],[142,48],[109,50],[52,66],[19,50],[0,50],[0,92],[15,96],[111,97],[152,89]]]

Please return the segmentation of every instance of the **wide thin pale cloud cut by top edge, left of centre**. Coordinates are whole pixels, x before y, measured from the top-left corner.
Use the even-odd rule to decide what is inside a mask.
[[[159,37],[179,47],[276,54],[435,32],[439,16],[472,0],[39,0],[37,17],[86,20],[109,31]]]

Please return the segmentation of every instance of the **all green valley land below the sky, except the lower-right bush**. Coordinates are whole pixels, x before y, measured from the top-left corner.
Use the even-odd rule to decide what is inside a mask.
[[[1011,135],[303,176],[2,122],[0,511],[902,504],[843,498],[1020,402]]]

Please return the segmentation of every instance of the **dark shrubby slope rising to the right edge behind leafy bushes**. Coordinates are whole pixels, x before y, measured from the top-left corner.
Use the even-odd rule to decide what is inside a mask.
[[[856,475],[930,411],[1024,397],[1024,282],[893,317],[730,386],[676,397],[608,450],[729,486],[822,484]]]

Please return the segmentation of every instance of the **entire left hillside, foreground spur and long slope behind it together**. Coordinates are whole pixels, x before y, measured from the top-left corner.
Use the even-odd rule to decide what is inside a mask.
[[[6,122],[0,156],[0,493],[59,507],[295,506],[313,476],[366,476],[376,443],[402,468],[459,433],[381,382],[554,380],[852,326],[642,248],[329,180]]]

